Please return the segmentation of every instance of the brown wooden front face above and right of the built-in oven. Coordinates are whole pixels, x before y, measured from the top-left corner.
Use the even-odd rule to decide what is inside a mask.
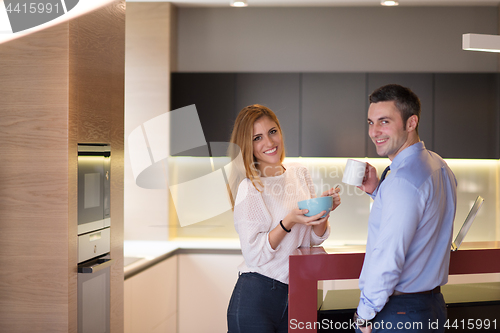
[[[78,143],[111,144],[111,332],[123,332],[125,1],[71,22],[71,105]],[[70,148],[72,150],[72,148]]]

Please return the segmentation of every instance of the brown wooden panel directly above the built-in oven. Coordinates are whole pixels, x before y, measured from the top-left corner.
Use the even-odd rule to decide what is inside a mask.
[[[111,142],[111,115],[124,105],[125,3],[78,18],[71,27],[77,40],[78,141]]]

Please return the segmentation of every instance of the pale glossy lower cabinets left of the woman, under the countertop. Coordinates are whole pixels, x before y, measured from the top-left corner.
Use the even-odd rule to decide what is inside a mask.
[[[178,254],[125,280],[125,333],[227,332],[241,254]]]

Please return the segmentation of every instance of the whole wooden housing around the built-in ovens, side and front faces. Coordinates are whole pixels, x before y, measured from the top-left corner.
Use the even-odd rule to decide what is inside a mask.
[[[112,146],[123,332],[125,2],[0,45],[0,331],[77,331],[77,143]]]

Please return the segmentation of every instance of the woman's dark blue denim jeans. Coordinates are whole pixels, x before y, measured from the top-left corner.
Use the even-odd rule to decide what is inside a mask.
[[[288,332],[288,285],[258,273],[239,276],[227,309],[228,333]]]

